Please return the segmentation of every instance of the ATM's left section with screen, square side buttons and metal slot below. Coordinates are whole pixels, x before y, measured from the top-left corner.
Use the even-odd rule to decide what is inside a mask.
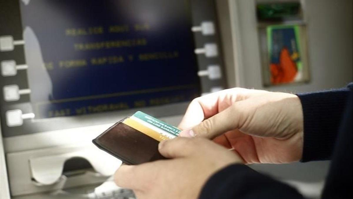
[[[1,1],[1,186],[13,198],[134,198],[112,181],[121,161],[91,140],[137,110],[177,124],[193,98],[226,87],[215,8]]]

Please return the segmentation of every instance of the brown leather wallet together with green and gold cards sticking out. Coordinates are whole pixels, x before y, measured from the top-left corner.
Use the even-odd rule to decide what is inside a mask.
[[[164,159],[158,143],[177,137],[180,129],[143,112],[115,123],[92,142],[126,164]]]

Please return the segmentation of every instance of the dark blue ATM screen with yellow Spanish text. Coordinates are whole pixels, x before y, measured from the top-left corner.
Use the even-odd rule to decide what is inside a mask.
[[[20,14],[36,118],[201,93],[187,0],[20,0]]]

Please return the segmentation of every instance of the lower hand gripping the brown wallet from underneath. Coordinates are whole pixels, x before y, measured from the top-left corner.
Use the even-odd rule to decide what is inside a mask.
[[[169,160],[122,165],[115,183],[142,199],[196,199],[207,179],[223,167],[242,163],[234,152],[205,138],[177,137],[158,149]]]

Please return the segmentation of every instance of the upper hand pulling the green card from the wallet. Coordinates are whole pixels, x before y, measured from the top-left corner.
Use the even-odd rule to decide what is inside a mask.
[[[179,125],[183,137],[206,137],[234,148],[246,163],[301,159],[303,110],[296,95],[227,89],[194,99]]]

